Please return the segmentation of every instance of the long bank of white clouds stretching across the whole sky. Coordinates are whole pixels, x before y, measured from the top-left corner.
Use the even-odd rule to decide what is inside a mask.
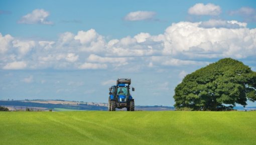
[[[164,33],[141,32],[107,40],[95,29],[64,32],[56,41],[19,39],[0,33],[2,69],[159,69],[206,65],[212,58],[256,55],[256,29],[245,22],[172,23]],[[199,60],[204,59],[204,61]]]

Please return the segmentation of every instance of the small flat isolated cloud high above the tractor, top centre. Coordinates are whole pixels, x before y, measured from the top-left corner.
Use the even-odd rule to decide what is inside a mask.
[[[148,20],[148,19],[153,19],[155,15],[156,15],[156,12],[154,11],[133,11],[133,12],[129,12],[124,17],[124,20],[129,20],[129,21]]]

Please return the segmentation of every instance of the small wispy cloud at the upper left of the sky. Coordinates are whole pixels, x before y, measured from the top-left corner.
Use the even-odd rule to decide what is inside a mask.
[[[49,21],[47,17],[50,15],[48,11],[44,9],[34,9],[31,13],[28,13],[18,21],[18,23],[27,23],[27,24],[53,24],[52,21]]]

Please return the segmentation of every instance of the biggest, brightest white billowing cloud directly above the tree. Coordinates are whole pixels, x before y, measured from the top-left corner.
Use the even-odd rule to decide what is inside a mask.
[[[203,28],[201,22],[173,23],[165,31],[164,54],[190,58],[245,58],[255,55],[256,29]]]

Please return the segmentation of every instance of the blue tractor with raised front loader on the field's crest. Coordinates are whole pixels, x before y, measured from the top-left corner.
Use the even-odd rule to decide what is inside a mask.
[[[115,108],[127,108],[127,111],[134,111],[134,99],[130,93],[131,79],[118,78],[116,85],[109,88],[108,110],[115,111]],[[135,88],[132,87],[132,91]]]

